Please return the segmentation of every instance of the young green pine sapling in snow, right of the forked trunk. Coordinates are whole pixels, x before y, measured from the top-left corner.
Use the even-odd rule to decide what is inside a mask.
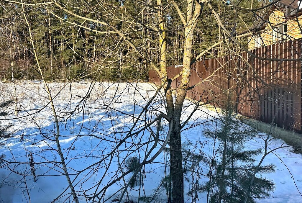
[[[219,141],[216,149],[217,156],[211,161],[204,160],[210,168],[209,181],[191,190],[188,195],[208,192],[208,202],[211,203],[243,202],[256,168],[253,157],[262,153],[261,149],[247,150],[244,146],[245,141],[253,137],[255,133],[255,130],[241,128],[234,118],[230,97],[228,97],[220,127],[207,129],[204,133],[206,137]],[[261,166],[259,173],[274,171],[274,165],[268,164]],[[255,177],[247,202],[255,202],[256,198],[269,197],[269,192],[274,188],[275,183],[271,180]]]

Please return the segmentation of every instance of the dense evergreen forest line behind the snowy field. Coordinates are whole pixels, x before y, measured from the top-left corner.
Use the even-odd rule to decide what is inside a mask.
[[[42,1],[37,1],[39,5]],[[69,11],[83,16],[95,16],[91,8],[100,11],[104,18],[114,28],[127,32],[135,46],[141,50],[147,49],[150,60],[160,62],[160,52],[157,43],[158,28],[157,19],[154,18],[155,2],[151,2],[143,12],[137,2],[125,0],[110,0],[105,4],[98,1],[90,1],[85,7],[78,1],[61,1],[62,5],[67,4]],[[260,4],[258,1],[238,1],[243,7],[255,7]],[[167,41],[167,54],[169,56],[168,66],[182,64],[183,43],[185,33],[184,25],[172,8],[169,2],[163,3],[165,9],[165,26],[169,32]],[[256,12],[234,11],[227,3],[215,0],[212,4],[217,7],[217,14],[221,16],[226,26],[236,35],[240,31],[251,26],[255,19]],[[29,40],[29,27],[24,22],[23,11],[18,3],[2,1],[0,7],[0,77],[2,80],[14,81],[14,79],[40,79],[37,69],[37,62],[34,59],[34,51]],[[100,80],[146,80],[149,65],[143,62],[141,56],[130,51],[128,44],[119,44],[120,37],[108,26],[96,22],[79,19],[69,15],[62,9],[53,5],[42,4],[25,5],[27,19],[30,29],[34,34],[34,43],[39,55],[45,78],[54,79],[92,79],[92,72],[101,71],[98,74]],[[198,21],[197,29],[194,31],[193,56],[205,50],[209,45],[222,38],[222,33],[211,15],[211,10],[204,5],[201,20]],[[183,10],[185,5],[179,6]],[[114,12],[114,19],[110,13]],[[236,18],[246,19],[246,21]],[[127,22],[133,21],[130,25]],[[124,21],[124,22],[123,22]],[[125,23],[126,22],[126,23]],[[116,46],[117,45],[117,46]],[[236,47],[236,46],[234,46]],[[219,51],[223,54],[223,51]],[[213,57],[218,55],[214,49]],[[105,60],[104,60],[105,59]],[[86,76],[87,75],[87,76]],[[84,76],[84,77],[83,77]]]

